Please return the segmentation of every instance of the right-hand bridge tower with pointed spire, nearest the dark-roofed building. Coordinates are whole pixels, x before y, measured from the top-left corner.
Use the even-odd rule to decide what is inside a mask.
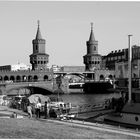
[[[85,70],[94,71],[101,67],[101,55],[98,54],[98,41],[95,40],[93,33],[93,23],[91,23],[91,33],[87,41],[87,54],[83,56]]]

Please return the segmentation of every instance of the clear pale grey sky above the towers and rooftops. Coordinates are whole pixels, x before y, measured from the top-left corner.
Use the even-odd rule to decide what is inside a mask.
[[[30,64],[37,20],[49,63],[84,66],[91,25],[98,53],[140,45],[140,2],[0,1],[0,65]]]

